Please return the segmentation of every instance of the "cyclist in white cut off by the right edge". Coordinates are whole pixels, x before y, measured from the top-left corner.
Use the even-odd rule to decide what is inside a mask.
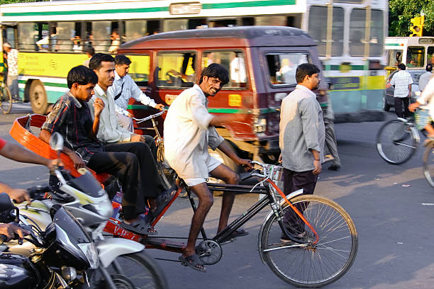
[[[414,115],[416,120],[416,128],[418,130],[425,129],[428,132],[428,140],[434,140],[434,128],[431,123],[434,119],[434,77],[430,78],[425,89],[423,89],[421,96],[416,99],[416,102],[408,106],[408,110],[414,113],[416,108],[419,111]]]

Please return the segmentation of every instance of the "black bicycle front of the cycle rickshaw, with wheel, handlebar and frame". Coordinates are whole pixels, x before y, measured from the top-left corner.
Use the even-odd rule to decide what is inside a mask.
[[[333,200],[303,195],[302,190],[284,196],[274,183],[282,180],[282,166],[252,164],[260,166],[249,176],[260,178],[255,186],[208,183],[210,191],[259,193],[265,198],[258,200],[215,237],[208,238],[204,228],[201,229],[202,241],[196,246],[196,252],[202,263],[213,265],[220,261],[221,245],[232,242],[234,239],[230,239],[230,235],[269,205],[272,210],[265,217],[258,236],[262,262],[267,263],[279,278],[297,287],[317,288],[342,277],[355,261],[358,247],[357,231],[350,215]],[[182,188],[187,190],[191,207],[196,210],[191,190],[183,181],[179,191]],[[291,226],[283,222],[284,215],[292,220]],[[152,225],[158,220],[160,216]],[[170,241],[171,238],[187,239],[148,236],[140,242],[147,248],[182,252],[185,243]]]

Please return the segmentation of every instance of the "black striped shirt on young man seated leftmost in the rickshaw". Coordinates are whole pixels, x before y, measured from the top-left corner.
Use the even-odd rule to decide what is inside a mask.
[[[78,101],[68,91],[57,100],[41,130],[47,130],[51,134],[59,132],[65,138],[65,146],[79,154],[87,163],[95,152],[104,150],[100,142],[89,138],[93,124],[89,106]]]

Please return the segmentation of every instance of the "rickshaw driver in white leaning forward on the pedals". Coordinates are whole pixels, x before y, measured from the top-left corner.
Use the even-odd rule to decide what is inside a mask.
[[[208,113],[208,96],[215,96],[228,81],[228,71],[220,64],[206,67],[201,73],[199,85],[195,84],[191,89],[179,94],[169,106],[164,125],[165,158],[199,198],[198,208],[191,220],[187,247],[182,256],[179,256],[179,260],[202,272],[206,269],[195,253],[195,244],[205,217],[213,205],[213,195],[206,186],[206,179],[211,175],[229,184],[238,184],[240,181],[238,174],[211,157],[208,146],[212,149],[221,149],[236,164],[245,166],[245,169],[252,169],[250,160],[240,159],[214,128],[216,125],[224,125],[234,120],[240,121],[240,117]],[[223,193],[217,232],[228,226],[234,199],[235,193]],[[228,238],[247,234],[244,229],[238,229]]]

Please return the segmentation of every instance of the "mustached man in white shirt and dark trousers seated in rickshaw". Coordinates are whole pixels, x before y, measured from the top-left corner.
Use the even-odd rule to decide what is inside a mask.
[[[90,62],[89,68],[93,69],[98,76],[98,84],[94,88],[94,96],[89,101],[89,107],[94,106],[96,98],[100,98],[104,102],[104,110],[99,116],[99,130],[96,135],[98,140],[107,143],[130,142],[130,146],[123,147],[125,152],[135,154],[140,164],[140,188],[143,190],[143,196],[147,198],[150,204],[150,214],[152,217],[148,218],[152,222],[154,217],[160,215],[165,205],[172,200],[174,196],[174,188],[165,191],[162,180],[157,171],[155,158],[152,156],[150,147],[145,141],[143,135],[135,135],[133,132],[128,132],[122,128],[118,123],[115,113],[115,102],[113,96],[109,93],[108,89],[114,80],[114,59],[111,55],[104,53],[96,53]],[[90,110],[92,113],[92,109]],[[93,117],[94,115],[92,115]],[[151,137],[152,138],[152,137]],[[152,138],[155,146],[155,142]],[[127,229],[133,229],[128,228]],[[150,227],[148,234],[155,233],[155,229]]]

